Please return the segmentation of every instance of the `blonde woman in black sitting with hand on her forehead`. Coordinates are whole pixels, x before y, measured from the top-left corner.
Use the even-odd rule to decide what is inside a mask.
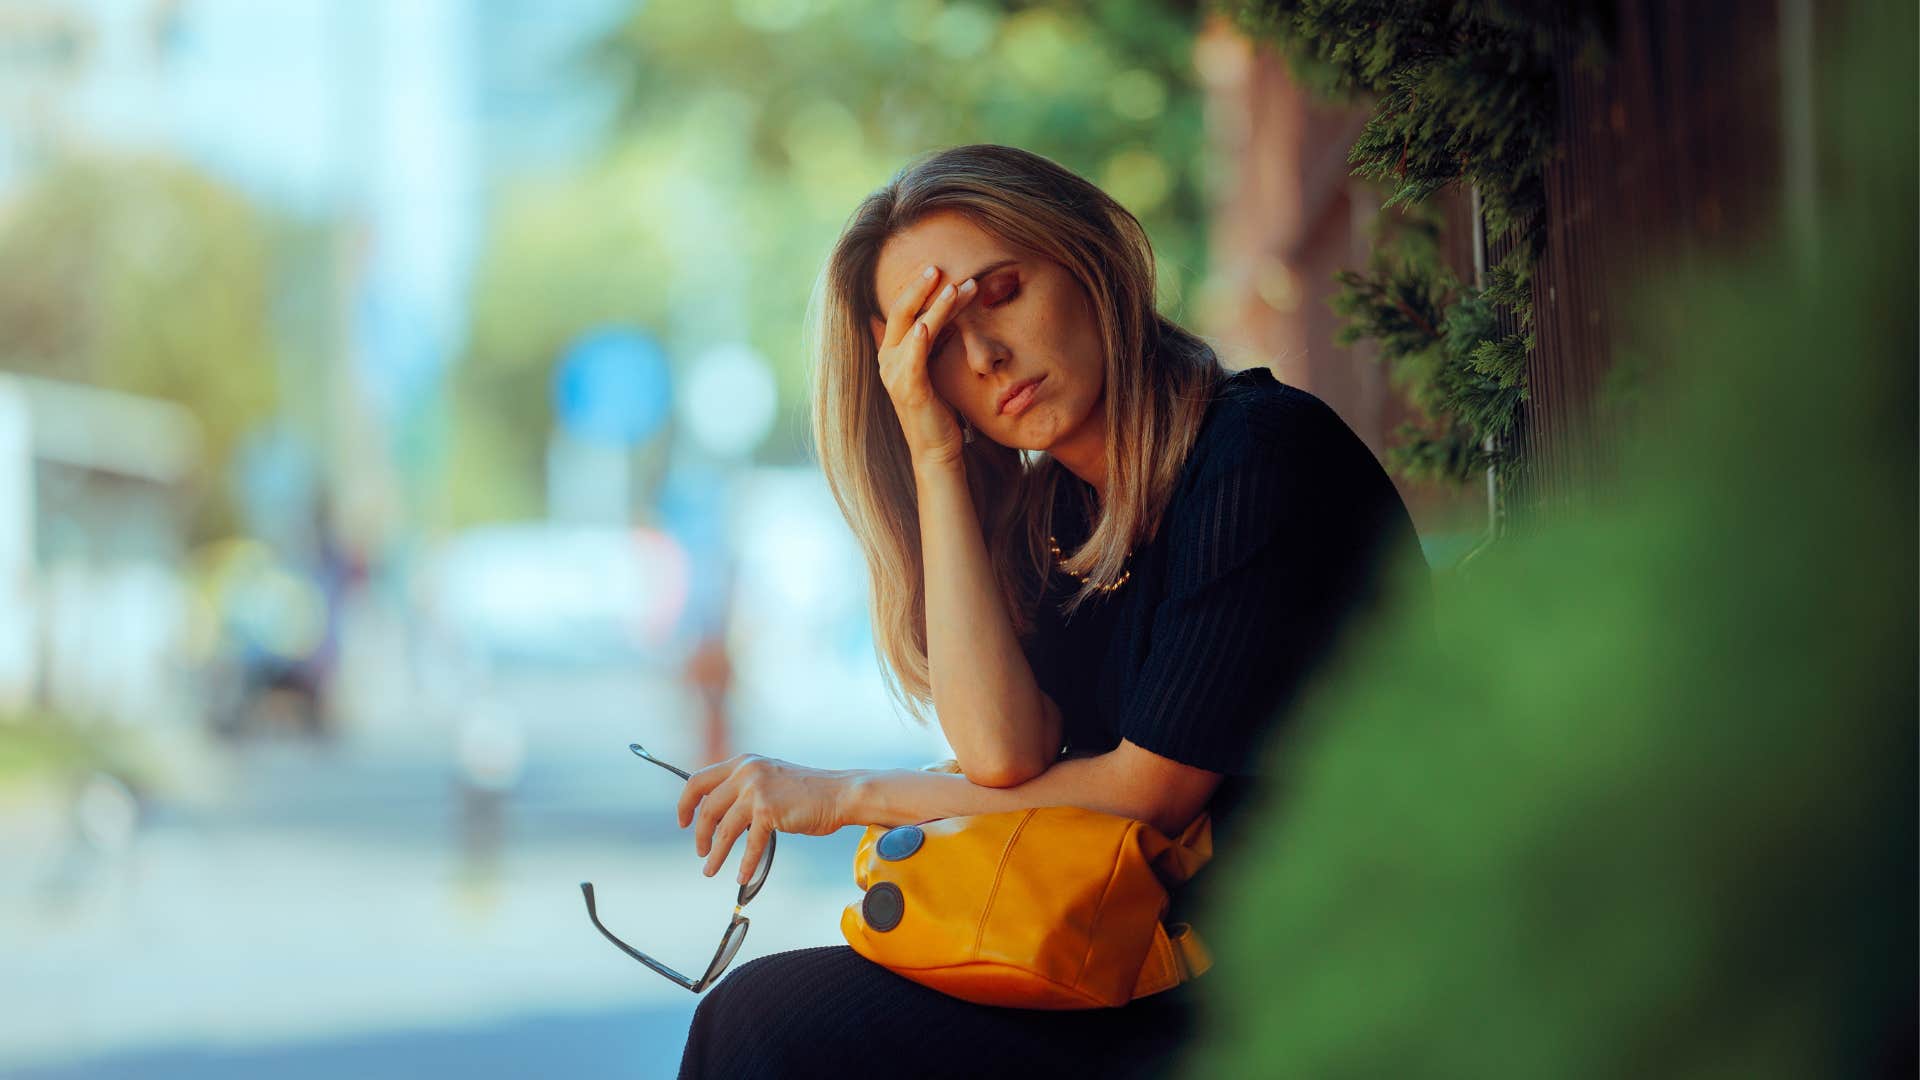
[[[707,872],[743,836],[741,880],[774,830],[1039,805],[1167,834],[1208,809],[1231,859],[1271,721],[1386,563],[1425,569],[1367,448],[1160,317],[1139,221],[1021,150],[945,150],[868,196],[814,325],[814,438],[885,669],[910,709],[933,705],[962,774],[722,761],[680,798]],[[682,1076],[1150,1072],[1200,982],[1123,1009],[991,1009],[845,945],[799,949],[703,999]]]

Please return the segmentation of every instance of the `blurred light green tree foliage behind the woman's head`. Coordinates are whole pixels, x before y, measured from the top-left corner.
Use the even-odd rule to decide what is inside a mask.
[[[760,455],[803,459],[806,298],[854,204],[912,156],[1004,142],[1075,169],[1146,225],[1162,307],[1204,263],[1208,173],[1192,6],[935,0],[660,0],[582,60],[626,88],[588,171],[528,179],[493,223],[459,369],[455,517],[538,507],[549,371],[624,323],[682,369],[747,342],[783,421]]]

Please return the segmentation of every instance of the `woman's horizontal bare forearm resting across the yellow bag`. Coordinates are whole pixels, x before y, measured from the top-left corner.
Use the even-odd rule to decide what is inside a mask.
[[[1012,788],[985,788],[954,773],[854,769],[845,774],[841,824],[918,824],[939,817],[1029,807],[1085,807],[1140,819],[1175,836],[1204,803],[1125,769],[1116,753],[1071,757]],[[1190,805],[1187,805],[1190,803]]]

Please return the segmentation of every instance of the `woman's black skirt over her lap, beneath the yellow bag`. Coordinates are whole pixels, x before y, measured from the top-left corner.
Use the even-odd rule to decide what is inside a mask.
[[[682,1080],[1164,1076],[1198,982],[1119,1009],[996,1009],[906,980],[847,945],[758,957],[693,1013]]]

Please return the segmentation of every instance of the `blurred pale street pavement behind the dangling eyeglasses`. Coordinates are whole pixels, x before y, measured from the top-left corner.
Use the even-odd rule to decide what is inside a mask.
[[[699,874],[672,821],[678,782],[624,749],[637,738],[695,761],[676,694],[580,678],[503,690],[564,721],[528,732],[522,782],[493,807],[461,794],[449,738],[430,728],[252,746],[209,798],[144,807],[117,853],[15,807],[0,1074],[670,1076],[695,999],[603,942],[578,882],[664,963],[710,957],[732,867]],[[801,732],[781,751],[914,765],[937,740],[876,713],[870,730]],[[781,838],[739,961],[841,940],[856,840]]]

